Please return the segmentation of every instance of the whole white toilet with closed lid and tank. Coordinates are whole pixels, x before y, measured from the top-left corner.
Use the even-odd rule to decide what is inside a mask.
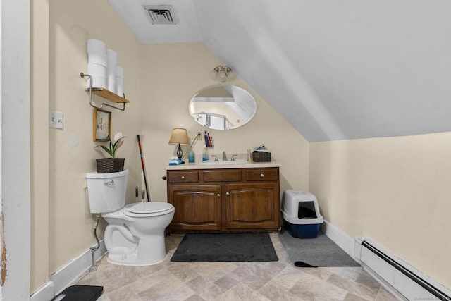
[[[89,208],[108,222],[105,246],[114,264],[144,266],[166,258],[164,230],[174,207],[166,202],[125,205],[128,170],[118,173],[87,173]],[[125,205],[125,206],[124,206]]]

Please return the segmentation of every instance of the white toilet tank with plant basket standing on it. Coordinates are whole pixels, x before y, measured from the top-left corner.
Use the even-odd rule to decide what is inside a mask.
[[[106,213],[125,205],[128,169],[118,173],[87,173],[87,195],[91,213]]]

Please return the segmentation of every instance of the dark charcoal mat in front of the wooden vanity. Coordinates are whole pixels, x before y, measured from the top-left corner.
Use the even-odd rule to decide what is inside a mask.
[[[171,262],[276,262],[268,233],[188,233]]]

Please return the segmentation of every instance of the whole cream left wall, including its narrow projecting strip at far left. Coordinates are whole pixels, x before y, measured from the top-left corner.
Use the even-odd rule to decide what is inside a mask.
[[[104,154],[94,149],[99,142],[92,141],[93,108],[80,78],[87,72],[87,39],[106,42],[125,69],[130,104],[125,111],[106,110],[112,111],[112,135],[121,130],[127,136],[118,154],[130,169],[130,196],[142,181],[135,138],[140,133],[140,43],[106,1],[33,1],[32,24],[30,293],[95,243],[85,173],[94,171],[95,159]],[[48,128],[49,111],[63,112],[63,130]]]

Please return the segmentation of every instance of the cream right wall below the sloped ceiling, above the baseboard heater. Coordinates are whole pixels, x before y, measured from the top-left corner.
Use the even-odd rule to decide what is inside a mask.
[[[326,220],[451,288],[451,133],[310,144]]]

